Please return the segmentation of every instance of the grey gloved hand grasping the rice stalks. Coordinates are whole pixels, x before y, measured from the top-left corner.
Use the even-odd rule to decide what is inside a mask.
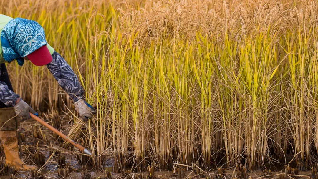
[[[93,115],[96,114],[94,108],[88,103],[86,103],[86,101],[84,101],[83,99],[76,101],[74,103],[74,106],[77,112],[79,113],[79,116],[84,121],[93,118]]]

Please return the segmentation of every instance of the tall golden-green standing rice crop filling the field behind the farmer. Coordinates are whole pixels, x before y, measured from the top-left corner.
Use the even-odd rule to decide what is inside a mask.
[[[94,168],[318,161],[318,2],[2,0],[36,20],[96,117],[73,117]],[[46,67],[8,65],[32,107],[76,116]]]

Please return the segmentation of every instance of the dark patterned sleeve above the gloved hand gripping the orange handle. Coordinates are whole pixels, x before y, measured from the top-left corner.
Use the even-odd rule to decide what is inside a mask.
[[[6,106],[13,106],[18,98],[20,98],[20,95],[11,91],[7,84],[0,81],[0,101],[3,102],[3,104]]]

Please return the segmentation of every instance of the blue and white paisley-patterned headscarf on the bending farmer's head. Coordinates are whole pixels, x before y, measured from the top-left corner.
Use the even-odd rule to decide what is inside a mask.
[[[15,18],[3,27],[1,45],[4,60],[11,62],[17,59],[23,65],[22,57],[28,56],[43,45],[46,45],[43,27],[35,21]]]

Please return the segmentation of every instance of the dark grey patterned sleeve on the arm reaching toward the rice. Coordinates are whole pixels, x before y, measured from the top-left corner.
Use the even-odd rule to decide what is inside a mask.
[[[52,54],[52,62],[47,64],[54,78],[74,102],[83,99],[84,90],[70,65],[58,52]]]

